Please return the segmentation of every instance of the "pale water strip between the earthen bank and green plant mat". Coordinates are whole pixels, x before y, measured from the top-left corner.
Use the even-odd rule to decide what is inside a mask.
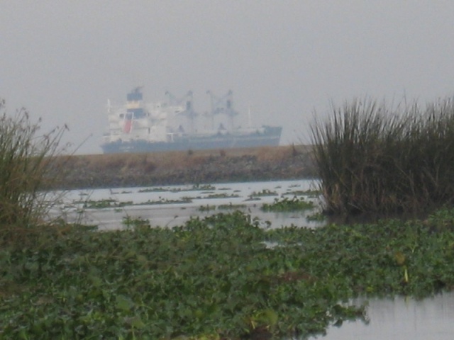
[[[220,205],[242,205],[242,210],[251,217],[258,217],[261,223],[271,227],[297,225],[299,227],[315,227],[317,222],[308,222],[307,215],[314,210],[302,212],[262,212],[264,203],[272,203],[275,199],[294,196],[304,197],[317,203],[318,198],[302,194],[315,188],[314,181],[269,181],[248,183],[218,183],[209,187],[194,186],[162,186],[146,188],[116,188],[113,190],[99,189],[92,191],[70,191],[65,197],[65,214],[70,220],[80,220],[87,224],[95,224],[99,229],[119,229],[123,227],[123,218],[143,218],[150,220],[151,225],[174,227],[183,225],[191,217],[204,217],[218,212],[233,211],[219,209]],[[263,195],[263,191],[267,195]],[[256,195],[261,193],[261,195]],[[118,203],[127,203],[122,208],[82,209],[83,202],[111,199]],[[178,203],[182,199],[190,200]],[[159,203],[159,204],[158,204]],[[210,206],[209,211],[201,211],[201,207]],[[213,207],[216,209],[213,210]],[[77,211],[83,210],[79,214]],[[269,223],[268,223],[269,222]]]

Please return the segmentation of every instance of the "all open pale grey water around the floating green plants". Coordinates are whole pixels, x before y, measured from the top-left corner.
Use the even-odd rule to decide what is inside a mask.
[[[263,212],[264,203],[294,196],[312,200],[308,192],[316,189],[313,181],[270,181],[248,183],[218,183],[209,186],[162,186],[154,188],[116,188],[66,193],[56,213],[65,213],[68,220],[98,225],[100,230],[125,227],[126,217],[149,220],[153,226],[173,227],[190,218],[203,218],[233,208],[248,213],[264,227],[318,227],[323,222],[310,222],[313,210],[301,212]],[[109,208],[89,208],[90,204],[111,200]],[[121,206],[118,206],[121,205]],[[84,208],[85,206],[85,208]],[[221,206],[226,208],[221,210]],[[230,208],[232,209],[228,209]],[[88,207],[88,208],[87,208]],[[357,301],[360,305],[363,301]],[[344,322],[330,327],[323,340],[419,340],[454,339],[454,293],[443,293],[423,300],[408,297],[370,299],[368,322]]]

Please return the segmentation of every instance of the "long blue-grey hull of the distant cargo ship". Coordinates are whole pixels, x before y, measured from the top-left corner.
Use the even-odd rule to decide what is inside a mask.
[[[273,147],[279,145],[281,127],[266,127],[263,133],[248,135],[218,134],[211,136],[175,137],[172,142],[146,140],[107,142],[101,145],[104,154],[119,152],[167,152],[242,147]]]

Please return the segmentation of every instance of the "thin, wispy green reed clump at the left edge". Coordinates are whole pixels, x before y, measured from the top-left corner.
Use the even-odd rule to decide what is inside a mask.
[[[40,120],[32,123],[25,109],[9,116],[0,101],[0,244],[21,242],[42,225],[52,206],[41,189],[50,180],[65,128],[43,135],[39,130]]]

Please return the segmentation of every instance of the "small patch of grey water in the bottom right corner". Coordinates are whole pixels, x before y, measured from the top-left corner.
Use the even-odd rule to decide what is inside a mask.
[[[362,301],[360,301],[362,302]],[[367,307],[370,322],[344,322],[331,327],[323,340],[450,340],[454,337],[454,293],[423,300],[409,297],[372,299]]]

